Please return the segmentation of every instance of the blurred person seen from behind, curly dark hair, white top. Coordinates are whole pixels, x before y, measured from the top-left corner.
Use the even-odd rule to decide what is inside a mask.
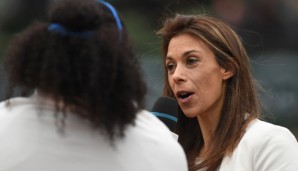
[[[183,149],[144,108],[140,64],[105,1],[59,0],[49,23],[7,51],[0,104],[1,171],[186,171]]]

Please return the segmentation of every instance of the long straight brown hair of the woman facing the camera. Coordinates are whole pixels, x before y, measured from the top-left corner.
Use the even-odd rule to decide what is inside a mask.
[[[204,144],[199,123],[197,118],[187,118],[179,109],[176,132],[187,155],[189,169],[206,167],[208,171],[213,171],[236,148],[249,121],[259,117],[255,82],[240,37],[229,25],[210,16],[177,14],[167,19],[158,32],[162,36],[164,62],[170,40],[182,33],[201,39],[213,51],[218,64],[234,72],[234,76],[227,81],[221,118],[208,149],[210,152],[199,164],[196,157]],[[164,95],[174,97],[166,68],[164,75]]]

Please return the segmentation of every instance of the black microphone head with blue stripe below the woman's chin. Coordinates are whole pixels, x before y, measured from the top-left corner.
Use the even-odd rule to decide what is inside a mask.
[[[178,120],[178,103],[176,99],[165,96],[159,97],[154,103],[151,112],[171,131],[174,131]]]

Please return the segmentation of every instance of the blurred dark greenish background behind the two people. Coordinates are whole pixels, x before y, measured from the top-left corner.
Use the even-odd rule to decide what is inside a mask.
[[[8,42],[36,20],[45,20],[54,0],[0,0],[0,62]],[[160,39],[156,32],[175,13],[208,14],[229,23],[242,37],[252,61],[265,118],[298,138],[297,0],[107,0],[116,7],[134,40],[148,85],[147,109],[163,87]],[[0,100],[6,76],[0,66]]]

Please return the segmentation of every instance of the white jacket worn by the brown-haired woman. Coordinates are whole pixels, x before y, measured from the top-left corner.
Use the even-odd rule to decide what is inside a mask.
[[[252,121],[219,171],[298,171],[298,143],[286,128]]]

